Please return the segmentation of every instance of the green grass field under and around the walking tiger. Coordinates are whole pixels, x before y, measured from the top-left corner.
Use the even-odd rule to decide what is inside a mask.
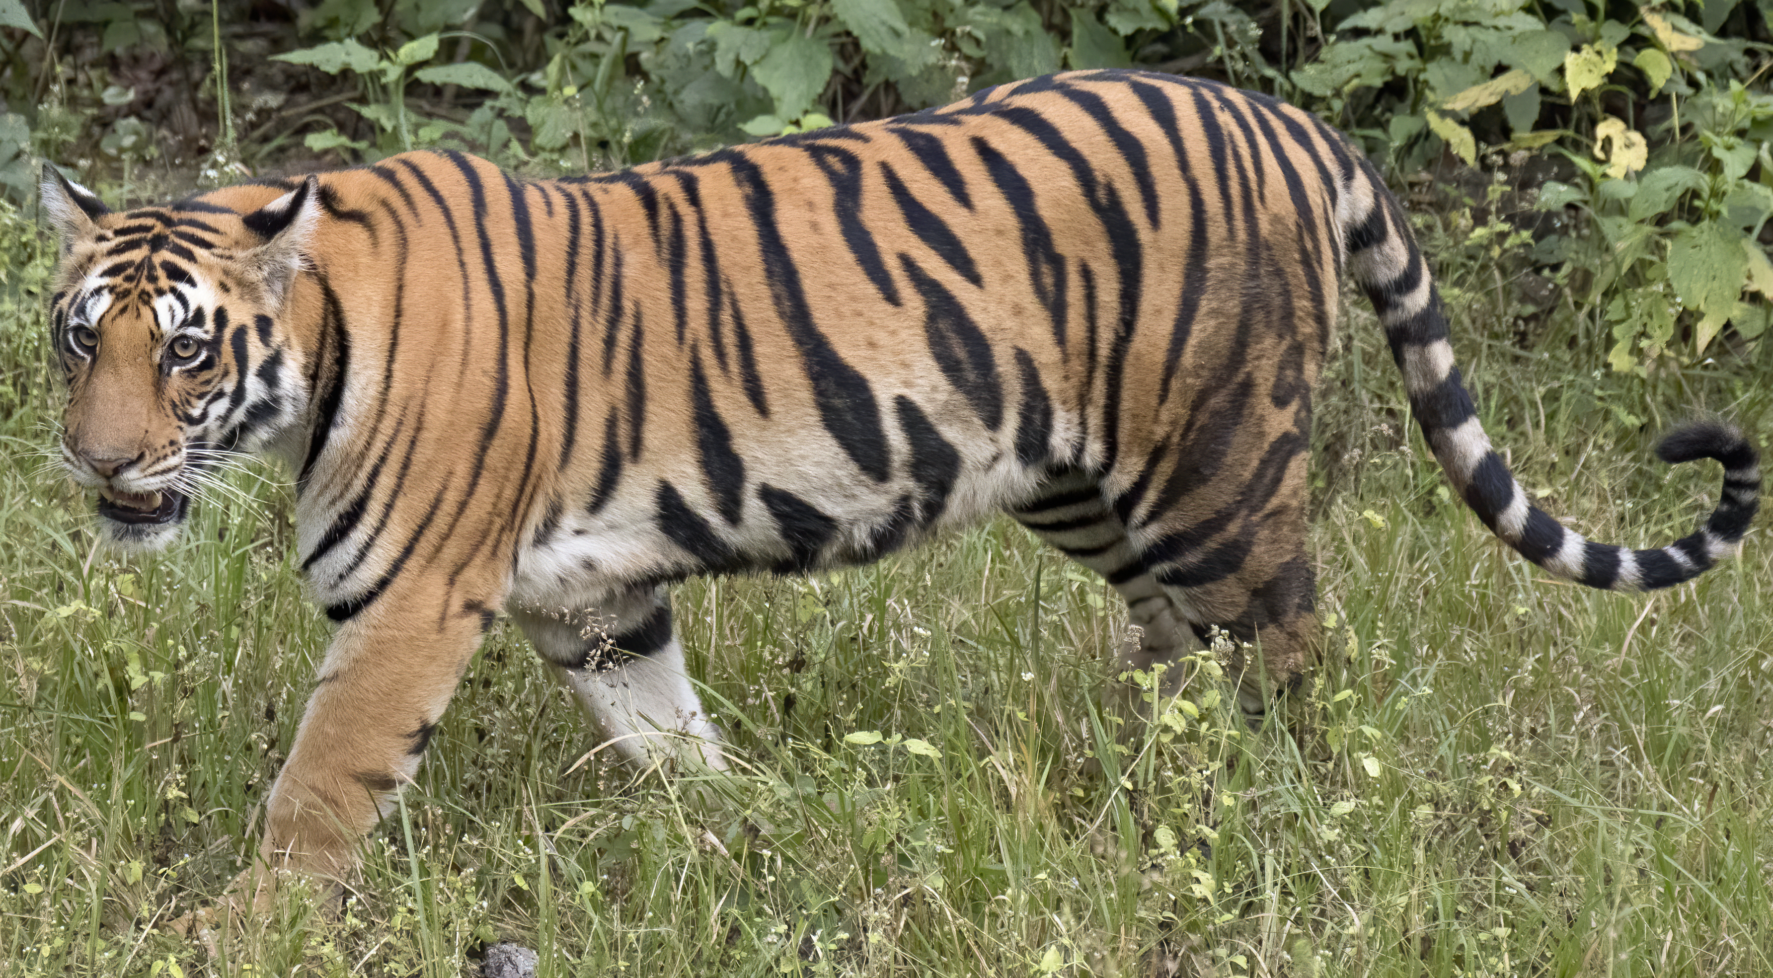
[[[543,974],[1773,974],[1773,547],[1652,597],[1544,581],[1450,501],[1363,310],[1319,397],[1303,746],[1241,730],[1211,656],[1121,730],[1113,594],[998,521],[677,592],[741,762],[715,811],[578,764],[587,725],[500,624],[346,918],[289,902],[211,959],[158,925],[248,852],[326,641],[289,477],[239,477],[167,555],[94,551],[43,455],[46,257],[0,223],[0,976],[463,974],[504,939]],[[1670,422],[1773,434],[1736,354],[1599,372],[1571,310],[1521,351],[1461,268],[1486,425],[1580,532],[1709,510],[1716,466],[1649,459]]]

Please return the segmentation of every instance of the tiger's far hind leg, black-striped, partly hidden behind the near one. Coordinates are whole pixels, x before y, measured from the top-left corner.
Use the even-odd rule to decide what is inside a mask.
[[[1158,583],[1128,539],[1126,523],[1101,494],[1099,480],[1083,470],[1064,470],[1041,484],[1035,496],[1012,507],[1011,516],[1071,560],[1096,570],[1126,601],[1128,618],[1140,627],[1136,648],[1122,648],[1115,675],[1168,666],[1200,650],[1179,595]],[[1181,689],[1181,673],[1167,671],[1163,695]],[[1133,689],[1121,686],[1122,693]]]

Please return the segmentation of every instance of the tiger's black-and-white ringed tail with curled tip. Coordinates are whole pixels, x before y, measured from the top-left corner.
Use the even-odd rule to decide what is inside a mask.
[[[1585,540],[1532,505],[1491,450],[1454,365],[1427,262],[1402,206],[1372,165],[1358,163],[1339,202],[1339,223],[1347,269],[1379,314],[1422,434],[1466,505],[1496,537],[1558,578],[1605,590],[1667,588],[1736,555],[1761,505],[1761,457],[1738,429],[1700,422],[1674,431],[1656,448],[1665,462],[1723,462],[1723,493],[1704,526],[1658,549]]]

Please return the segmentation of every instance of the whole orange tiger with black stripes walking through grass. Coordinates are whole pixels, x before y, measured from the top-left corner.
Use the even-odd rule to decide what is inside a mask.
[[[1378,168],[1207,80],[1073,71],[558,179],[426,149],[121,213],[46,168],[41,200],[60,454],[103,535],[165,546],[239,454],[294,473],[335,631],[259,854],[317,879],[358,865],[500,613],[615,755],[718,776],[672,583],[996,512],[1119,592],[1121,670],[1236,640],[1261,721],[1316,659],[1312,388],[1344,273],[1459,498],[1548,574],[1667,588],[1759,505],[1720,422],[1660,446],[1725,470],[1670,546],[1534,505]]]

